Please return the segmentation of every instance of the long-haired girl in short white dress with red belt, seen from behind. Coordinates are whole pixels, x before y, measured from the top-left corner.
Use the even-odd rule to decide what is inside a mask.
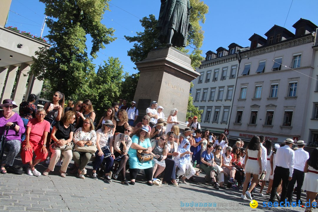
[[[251,191],[258,182],[259,174],[262,173],[262,161],[261,154],[262,148],[260,147],[259,137],[254,135],[248,144],[245,155],[245,181],[243,185],[243,192],[241,195],[241,199],[246,200],[245,194],[249,199],[252,200]],[[251,176],[253,175],[253,180],[251,182],[250,188],[247,190],[248,182],[250,181]]]

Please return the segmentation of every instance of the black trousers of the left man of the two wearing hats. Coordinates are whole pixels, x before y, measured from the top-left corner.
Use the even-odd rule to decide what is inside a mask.
[[[283,168],[280,166],[277,166],[274,171],[274,177],[273,177],[273,186],[271,191],[271,197],[269,198],[269,202],[274,202],[274,197],[277,191],[277,187],[281,182],[281,195],[280,195],[280,202],[284,202],[287,195],[287,188],[288,188],[288,180],[289,177],[289,168]]]

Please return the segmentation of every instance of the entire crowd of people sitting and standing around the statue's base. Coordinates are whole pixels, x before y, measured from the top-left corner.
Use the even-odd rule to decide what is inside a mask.
[[[127,100],[119,99],[95,122],[96,113],[89,99],[75,104],[69,101],[64,108],[64,94],[55,92],[43,109],[37,109],[35,99],[31,94],[22,102],[19,114],[12,110],[17,105],[11,99],[0,105],[0,134],[6,133],[1,150],[7,151],[1,161],[2,174],[7,173],[6,166],[12,166],[20,153],[22,162],[28,164],[28,175],[46,176],[60,167],[60,176],[66,177],[73,159],[69,173],[85,179],[86,166],[93,159],[90,176],[94,180],[99,179],[98,173],[107,182],[121,175],[123,185],[135,185],[138,172],[143,172],[149,186],[157,179],[178,186],[195,181],[201,171],[206,174],[204,180],[215,189],[242,190],[242,199],[267,194],[269,202],[275,198],[292,202],[295,190],[296,201],[301,201],[303,189],[307,202],[315,201],[318,149],[309,156],[303,149],[304,141],[294,143],[287,138],[281,145],[273,145],[264,136],[254,136],[246,148],[239,138],[231,147],[225,134],[217,137],[208,130],[202,131],[196,116],[188,118],[187,127],[180,133],[177,108],[171,109],[165,121],[163,107],[156,101],[136,123],[139,112],[135,101],[129,107]],[[291,149],[294,144],[298,147],[295,151]],[[48,168],[41,173],[35,166],[45,160]],[[130,182],[126,179],[127,169]],[[263,194],[266,181],[268,188]],[[257,185],[259,193],[255,190]]]

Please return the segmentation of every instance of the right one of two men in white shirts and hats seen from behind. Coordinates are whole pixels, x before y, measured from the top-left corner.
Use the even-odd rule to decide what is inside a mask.
[[[309,153],[304,150],[304,146],[305,146],[304,141],[298,140],[296,144],[298,145],[298,149],[294,152],[295,153],[294,173],[292,176],[292,180],[288,184],[288,190],[287,190],[288,202],[293,201],[293,190],[294,190],[294,185],[296,181],[297,181],[296,202],[300,201],[301,187],[305,177],[305,173],[304,173],[305,162],[309,159]]]

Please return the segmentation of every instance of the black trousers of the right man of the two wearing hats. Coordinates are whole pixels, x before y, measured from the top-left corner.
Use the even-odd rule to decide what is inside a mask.
[[[303,171],[298,170],[298,169],[294,169],[293,178],[289,182],[288,189],[287,189],[287,199],[288,199],[289,202],[293,201],[293,191],[294,191],[294,185],[295,185],[296,181],[297,181],[296,201],[300,200],[301,187],[302,187],[302,184],[304,182],[304,177],[305,177],[305,173]]]

